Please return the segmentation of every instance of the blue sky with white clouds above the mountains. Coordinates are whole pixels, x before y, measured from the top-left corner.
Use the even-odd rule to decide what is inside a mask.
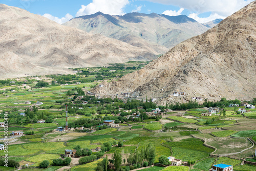
[[[98,11],[110,15],[130,12],[187,15],[199,23],[233,14],[253,0],[0,0],[1,4],[23,8],[59,24]]]

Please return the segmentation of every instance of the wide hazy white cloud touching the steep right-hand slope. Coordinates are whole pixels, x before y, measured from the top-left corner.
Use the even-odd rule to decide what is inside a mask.
[[[146,0],[154,3],[175,5],[188,9],[193,13],[212,12],[221,16],[229,16],[254,0]]]

